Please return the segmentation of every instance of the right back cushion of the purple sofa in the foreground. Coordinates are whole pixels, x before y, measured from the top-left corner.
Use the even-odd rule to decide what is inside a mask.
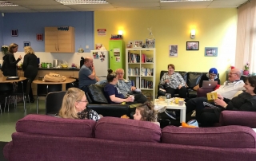
[[[249,127],[225,126],[218,128],[162,129],[162,143],[206,147],[255,148],[256,133]]]

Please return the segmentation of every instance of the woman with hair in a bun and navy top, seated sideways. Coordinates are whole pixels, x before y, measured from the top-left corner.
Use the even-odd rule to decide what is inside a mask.
[[[115,86],[115,84],[118,83],[117,74],[113,73],[113,70],[111,69],[108,69],[107,71],[108,75],[106,80],[108,81],[108,84],[106,84],[104,87],[104,93],[109,103],[120,104],[122,102],[126,102],[126,104],[134,104],[134,96],[129,96],[126,98]]]

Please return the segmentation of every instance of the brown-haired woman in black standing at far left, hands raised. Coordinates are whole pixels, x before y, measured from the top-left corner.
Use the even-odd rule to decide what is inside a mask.
[[[22,60],[22,56],[19,56],[16,60],[14,53],[18,51],[18,45],[12,43],[9,45],[8,53],[2,57],[4,60],[2,63],[2,74],[6,76],[18,76],[17,73],[17,63]]]

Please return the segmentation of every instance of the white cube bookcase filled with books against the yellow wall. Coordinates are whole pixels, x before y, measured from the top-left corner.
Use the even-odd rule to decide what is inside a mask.
[[[155,98],[155,58],[155,48],[126,48],[126,80],[133,81],[150,100]]]

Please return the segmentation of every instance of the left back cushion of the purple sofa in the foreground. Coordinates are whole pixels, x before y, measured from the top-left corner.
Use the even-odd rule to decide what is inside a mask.
[[[94,120],[63,119],[53,116],[30,114],[18,120],[17,132],[31,134],[94,137]]]

